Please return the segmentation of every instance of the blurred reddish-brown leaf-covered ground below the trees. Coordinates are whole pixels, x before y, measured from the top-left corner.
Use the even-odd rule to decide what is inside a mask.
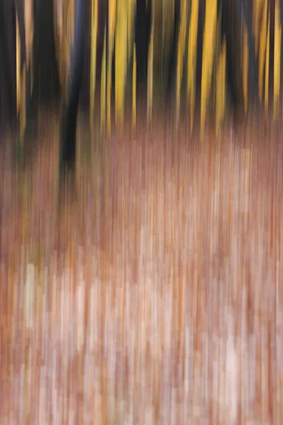
[[[6,135],[1,424],[283,423],[282,130],[145,123],[81,119],[59,210],[57,119],[21,174]]]

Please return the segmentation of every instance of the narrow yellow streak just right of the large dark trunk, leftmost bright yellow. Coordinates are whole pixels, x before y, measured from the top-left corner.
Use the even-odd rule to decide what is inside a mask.
[[[91,81],[90,81],[90,120],[93,128],[94,98],[96,94],[96,44],[98,33],[98,0],[91,0]]]

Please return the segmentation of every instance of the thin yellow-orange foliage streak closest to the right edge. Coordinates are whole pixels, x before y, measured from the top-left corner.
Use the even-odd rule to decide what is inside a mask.
[[[280,92],[280,64],[281,64],[281,23],[279,0],[275,0],[275,47],[274,47],[274,106],[273,118],[278,118],[278,99]]]

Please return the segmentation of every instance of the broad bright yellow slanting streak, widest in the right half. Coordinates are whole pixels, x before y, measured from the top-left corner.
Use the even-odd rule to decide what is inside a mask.
[[[204,40],[202,49],[202,89],[200,106],[201,132],[204,130],[204,121],[207,115],[207,99],[212,81],[212,65],[215,52],[217,24],[217,0],[206,0],[204,18]]]

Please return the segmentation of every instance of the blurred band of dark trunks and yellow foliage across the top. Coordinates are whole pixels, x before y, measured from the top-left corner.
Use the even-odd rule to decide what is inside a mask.
[[[62,89],[64,80],[67,81],[64,61],[68,62],[68,30],[74,19],[74,1],[32,2],[33,108],[38,101],[58,98],[60,86]],[[57,13],[58,24],[60,5],[60,25],[68,27],[61,30],[61,35],[54,23]],[[18,81],[15,7],[23,10],[23,0],[2,0],[2,123],[16,109],[15,96],[11,96],[17,91]],[[165,98],[170,91],[177,118],[182,108],[188,107],[192,127],[195,107],[200,106],[202,125],[212,113],[218,128],[226,111],[228,80],[232,101],[239,108],[247,112],[250,103],[258,102],[268,111],[272,104],[273,114],[278,118],[282,111],[282,8],[282,0],[89,0],[88,42],[82,64],[83,102],[90,103],[93,116],[96,83],[100,82],[100,87],[105,88],[100,89],[102,125],[110,125],[113,99],[115,116],[122,120],[125,96],[129,93],[135,121],[137,89],[145,74],[149,119],[154,98]],[[20,35],[23,30],[19,29]]]

